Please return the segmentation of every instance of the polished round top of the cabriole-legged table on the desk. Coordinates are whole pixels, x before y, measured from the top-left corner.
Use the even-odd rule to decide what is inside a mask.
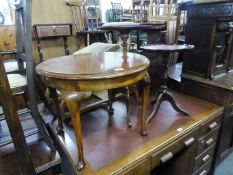
[[[37,74],[56,79],[108,79],[140,72],[148,68],[149,60],[136,53],[88,53],[48,59],[36,67]]]

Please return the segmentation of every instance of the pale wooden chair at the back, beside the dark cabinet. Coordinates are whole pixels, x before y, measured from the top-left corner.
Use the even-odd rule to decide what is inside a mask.
[[[177,5],[175,0],[150,0],[148,21],[152,23],[167,24],[167,44],[176,41],[176,11]]]

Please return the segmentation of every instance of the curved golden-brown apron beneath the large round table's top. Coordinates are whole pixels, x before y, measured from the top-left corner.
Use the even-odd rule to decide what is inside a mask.
[[[136,83],[145,77],[147,70],[145,69],[130,75],[103,79],[73,80],[55,79],[45,76],[41,76],[41,79],[47,86],[56,89],[67,91],[98,91],[124,87]]]

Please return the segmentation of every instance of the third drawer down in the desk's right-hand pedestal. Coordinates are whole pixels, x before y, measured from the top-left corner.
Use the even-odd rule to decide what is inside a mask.
[[[203,166],[206,162],[213,158],[215,150],[215,144],[212,145],[209,149],[203,152],[201,155],[194,159],[194,168],[193,171],[198,170],[201,166]]]

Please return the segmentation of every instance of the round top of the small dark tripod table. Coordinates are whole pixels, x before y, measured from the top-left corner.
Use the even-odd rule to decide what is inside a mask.
[[[142,50],[147,51],[156,51],[156,52],[182,52],[184,50],[193,49],[194,45],[168,45],[168,44],[156,44],[156,45],[147,45],[142,46]]]

